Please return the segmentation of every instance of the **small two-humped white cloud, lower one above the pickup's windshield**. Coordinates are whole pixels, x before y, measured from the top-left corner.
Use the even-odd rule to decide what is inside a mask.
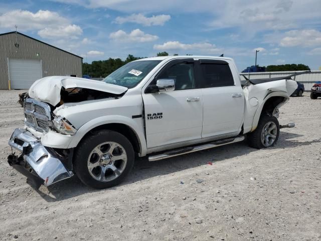
[[[150,42],[158,39],[156,35],[145,34],[140,29],[134,29],[129,34],[123,30],[118,30],[109,35],[109,38],[121,42]]]

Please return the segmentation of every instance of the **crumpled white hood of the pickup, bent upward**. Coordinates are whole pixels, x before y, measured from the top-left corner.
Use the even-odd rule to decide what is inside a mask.
[[[105,82],[92,79],[69,76],[48,76],[34,82],[28,93],[31,98],[35,98],[39,101],[47,102],[55,106],[61,99],[61,87],[64,87],[65,89],[94,89],[112,94],[122,94],[128,89],[127,87],[107,84]]]

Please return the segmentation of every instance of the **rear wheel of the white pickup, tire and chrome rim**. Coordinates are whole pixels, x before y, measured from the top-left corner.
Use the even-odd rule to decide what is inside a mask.
[[[261,115],[255,131],[248,135],[248,144],[256,149],[272,147],[276,144],[279,135],[280,125],[277,118],[264,114]]]

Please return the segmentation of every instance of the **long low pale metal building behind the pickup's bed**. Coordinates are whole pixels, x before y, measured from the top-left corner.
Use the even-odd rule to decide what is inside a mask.
[[[273,77],[282,77],[288,76],[294,73],[299,73],[304,71],[279,71],[279,72],[253,72],[253,73],[241,73],[241,79],[245,80],[243,75],[249,79],[262,79],[262,78],[273,78]],[[250,76],[250,77],[249,77]],[[300,82],[304,85],[305,91],[310,91],[313,83],[316,81],[321,81],[321,71],[311,70],[310,73],[297,75],[294,78],[297,82]]]

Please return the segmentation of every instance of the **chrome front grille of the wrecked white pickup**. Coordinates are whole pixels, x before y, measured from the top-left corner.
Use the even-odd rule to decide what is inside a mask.
[[[49,104],[32,98],[27,98],[24,106],[26,126],[33,127],[40,132],[48,130],[48,128],[53,126]]]

